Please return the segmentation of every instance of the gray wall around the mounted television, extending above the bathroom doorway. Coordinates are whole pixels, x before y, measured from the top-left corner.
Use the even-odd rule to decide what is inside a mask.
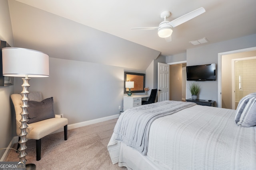
[[[187,66],[198,64],[218,63],[218,53],[233,51],[238,49],[245,49],[256,46],[256,34],[214,43],[209,45],[200,46],[187,50]],[[218,69],[218,64],[216,66]],[[218,72],[216,73],[218,75]],[[214,100],[218,106],[218,76],[216,81],[199,82],[201,89],[198,95],[199,99]],[[187,81],[187,96],[191,98],[191,93],[188,90],[188,84],[192,81]]]

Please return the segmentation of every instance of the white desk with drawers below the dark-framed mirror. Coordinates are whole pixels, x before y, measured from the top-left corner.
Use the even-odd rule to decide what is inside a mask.
[[[124,96],[124,111],[132,107],[141,106],[142,99],[148,98],[149,96],[149,94]]]

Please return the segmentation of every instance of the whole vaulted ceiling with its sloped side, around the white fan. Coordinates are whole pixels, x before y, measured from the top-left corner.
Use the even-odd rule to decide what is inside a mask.
[[[8,0],[14,45],[72,59],[145,70],[160,54],[171,56],[206,37],[216,43],[256,33],[255,0]],[[173,28],[172,41],[157,30],[197,8],[206,12]],[[209,44],[206,43],[206,44]],[[202,45],[206,45],[202,44]]]

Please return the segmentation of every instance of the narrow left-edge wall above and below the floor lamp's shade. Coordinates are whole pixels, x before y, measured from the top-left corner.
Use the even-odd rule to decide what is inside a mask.
[[[7,0],[0,1],[0,16],[0,40],[7,41],[13,46],[12,26]],[[8,147],[14,133],[10,108],[10,95],[13,92],[14,86],[0,87],[0,148]],[[5,150],[0,150],[0,158],[4,152]]]

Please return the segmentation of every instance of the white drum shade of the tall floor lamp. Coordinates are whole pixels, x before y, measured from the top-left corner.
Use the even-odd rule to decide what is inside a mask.
[[[2,49],[2,61],[4,76],[49,76],[49,56],[40,51],[6,47]]]

